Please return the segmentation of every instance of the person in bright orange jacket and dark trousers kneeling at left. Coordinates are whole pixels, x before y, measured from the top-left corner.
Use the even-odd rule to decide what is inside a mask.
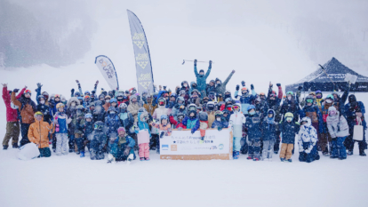
[[[53,124],[44,122],[44,115],[39,111],[35,113],[35,121],[29,126],[28,139],[35,143],[38,150],[40,150],[38,157],[50,157],[49,132],[53,133]]]

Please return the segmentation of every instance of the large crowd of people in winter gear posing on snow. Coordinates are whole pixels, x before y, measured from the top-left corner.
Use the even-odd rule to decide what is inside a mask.
[[[282,162],[292,162],[295,139],[299,145],[300,162],[313,162],[321,155],[344,160],[353,155],[358,142],[359,155],[365,156],[364,138],[354,138],[354,128],[361,124],[366,129],[364,104],[349,93],[350,84],[343,94],[308,92],[302,97],[297,92],[286,92],[281,84],[268,85],[267,92],[256,92],[254,85],[245,82],[236,85],[234,95],[227,90],[233,74],[222,82],[219,78],[207,82],[212,61],[204,70],[196,68],[196,82],[181,82],[172,92],[165,86],[155,86],[155,92],[138,93],[135,88],[97,93],[71,90],[69,100],[60,94],[42,92],[37,84],[36,102],[25,86],[22,90],[8,90],[3,84],[6,106],[6,134],[3,147],[18,148],[32,142],[39,148],[39,157],[76,153],[80,157],[88,152],[92,160],[104,159],[108,163],[136,159],[149,160],[149,150],[160,153],[160,138],[170,135],[173,129],[201,131],[198,144],[203,143],[204,131],[214,128],[233,131],[233,158],[248,154],[253,161],[272,160],[279,154]],[[240,86],[241,85],[241,86]],[[346,103],[346,101],[348,102]],[[21,133],[20,146],[19,136]],[[52,151],[49,147],[52,146]],[[348,152],[347,152],[348,151]]]

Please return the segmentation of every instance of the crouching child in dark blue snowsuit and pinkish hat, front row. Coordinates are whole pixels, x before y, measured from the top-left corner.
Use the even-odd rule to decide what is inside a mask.
[[[109,143],[110,153],[108,154],[108,163],[125,160],[131,162],[135,159],[133,150],[135,141],[125,132],[124,127],[119,127],[117,132],[119,134],[118,139],[110,140],[112,142]]]

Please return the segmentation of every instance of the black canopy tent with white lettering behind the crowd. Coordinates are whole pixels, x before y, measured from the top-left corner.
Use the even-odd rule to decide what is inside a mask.
[[[357,74],[354,70],[340,63],[339,60],[332,58],[323,67],[325,73],[323,68],[318,68],[299,82],[286,85],[286,92],[296,92],[299,86],[303,86],[304,92],[307,92],[309,89],[312,92],[316,92],[316,90],[322,92],[343,91],[348,84],[344,81],[346,74],[357,76],[356,84],[351,85],[350,92],[368,92],[368,77]]]

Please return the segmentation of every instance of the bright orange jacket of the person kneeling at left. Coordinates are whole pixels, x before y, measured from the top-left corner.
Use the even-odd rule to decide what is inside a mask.
[[[49,132],[55,131],[51,123],[43,120],[37,121],[35,118],[35,123],[30,124],[28,129],[29,141],[38,145],[38,148],[49,147]]]

